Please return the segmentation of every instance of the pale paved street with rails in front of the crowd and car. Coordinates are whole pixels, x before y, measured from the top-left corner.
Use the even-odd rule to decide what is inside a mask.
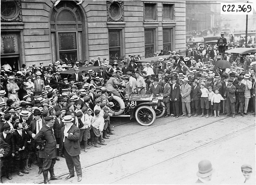
[[[129,118],[114,118],[115,135],[108,145],[82,152],[86,184],[191,184],[197,180],[198,162],[208,159],[215,172],[214,184],[241,184],[241,165],[249,163],[255,174],[255,117],[159,118],[143,127]],[[4,183],[42,183],[38,168],[13,176]],[[57,161],[55,174],[63,180],[51,183],[78,183],[65,180],[65,159]],[[252,183],[255,184],[255,175]]]

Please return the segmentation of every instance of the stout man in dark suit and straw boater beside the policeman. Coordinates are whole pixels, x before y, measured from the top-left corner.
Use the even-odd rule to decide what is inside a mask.
[[[72,116],[65,116],[62,120],[65,127],[61,128],[60,150],[65,156],[69,176],[66,179],[74,177],[74,167],[78,176],[78,182],[82,180],[82,169],[79,160],[80,154],[80,129],[73,124]]]

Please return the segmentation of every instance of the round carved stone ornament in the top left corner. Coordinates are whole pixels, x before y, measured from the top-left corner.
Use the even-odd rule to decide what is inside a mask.
[[[1,21],[2,22],[22,22],[20,0],[1,1]]]

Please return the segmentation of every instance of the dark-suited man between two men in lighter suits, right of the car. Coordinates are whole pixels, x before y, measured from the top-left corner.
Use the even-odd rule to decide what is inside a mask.
[[[175,76],[172,76],[171,78],[171,82],[173,83],[171,85],[171,101],[173,104],[173,116],[175,118],[179,117],[179,113],[180,113],[180,85],[178,85],[176,83],[177,78]]]

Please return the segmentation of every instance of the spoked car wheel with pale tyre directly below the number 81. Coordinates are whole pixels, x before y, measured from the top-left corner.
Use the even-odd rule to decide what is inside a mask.
[[[135,112],[137,122],[143,126],[149,126],[156,120],[156,112],[152,107],[147,105],[138,107]]]

